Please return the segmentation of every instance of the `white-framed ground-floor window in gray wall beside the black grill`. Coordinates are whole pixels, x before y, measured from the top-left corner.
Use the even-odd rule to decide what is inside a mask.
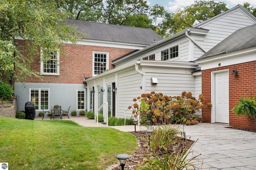
[[[36,110],[41,110],[41,106],[49,109],[49,89],[48,88],[30,88],[30,102],[36,107]]]

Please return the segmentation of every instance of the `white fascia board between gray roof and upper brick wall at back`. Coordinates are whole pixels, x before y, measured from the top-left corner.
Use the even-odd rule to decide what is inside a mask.
[[[72,44],[71,41],[67,41],[65,43]],[[144,49],[145,47],[148,46],[144,44],[120,43],[120,42],[113,42],[113,41],[98,41],[98,40],[91,40],[91,39],[83,39],[82,41],[78,41],[76,44],[100,46],[100,47],[124,48],[124,49]]]

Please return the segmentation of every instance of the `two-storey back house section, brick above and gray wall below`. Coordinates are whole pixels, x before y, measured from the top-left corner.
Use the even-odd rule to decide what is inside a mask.
[[[70,111],[76,110],[77,114],[80,110],[88,111],[91,104],[86,98],[86,78],[112,70],[112,60],[162,40],[152,29],[79,20],[68,20],[67,24],[87,37],[76,44],[64,43],[65,57],[53,52],[52,59],[45,63],[40,62],[40,56],[35,57],[31,69],[41,72],[44,79],[34,77],[14,83],[18,111],[24,110],[28,101],[35,104],[36,116],[42,111],[41,106],[49,111],[56,104],[64,110],[71,105]],[[16,42],[24,43],[18,37]]]

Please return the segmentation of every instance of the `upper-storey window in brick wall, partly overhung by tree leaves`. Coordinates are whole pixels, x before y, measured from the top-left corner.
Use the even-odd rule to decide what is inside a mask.
[[[43,51],[41,50],[41,74],[48,75],[59,75],[60,74],[60,53],[50,52],[50,54],[46,57],[43,57]]]

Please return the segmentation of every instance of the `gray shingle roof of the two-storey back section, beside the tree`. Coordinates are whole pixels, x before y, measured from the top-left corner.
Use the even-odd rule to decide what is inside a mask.
[[[81,20],[68,20],[67,24],[75,26],[82,33],[88,34],[86,39],[91,40],[151,45],[154,43],[154,40],[157,42],[163,39],[155,31],[148,28]]]

